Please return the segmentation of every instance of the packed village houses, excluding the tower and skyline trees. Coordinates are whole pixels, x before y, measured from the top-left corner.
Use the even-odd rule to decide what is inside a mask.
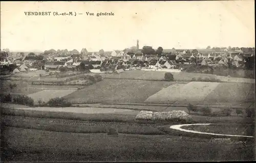
[[[91,66],[94,69],[119,69],[130,67],[145,68],[179,68],[183,64],[199,64],[208,66],[224,66],[228,63],[243,67],[246,57],[252,57],[251,53],[244,53],[241,50],[216,52],[212,49],[175,50],[165,49],[160,55],[143,55],[142,49],[135,52],[111,51],[104,53],[88,52],[74,54],[50,54],[44,56],[43,60],[15,59],[13,62],[19,67],[19,71],[28,70],[59,70],[61,67],[68,67],[76,70],[81,63],[84,66]]]

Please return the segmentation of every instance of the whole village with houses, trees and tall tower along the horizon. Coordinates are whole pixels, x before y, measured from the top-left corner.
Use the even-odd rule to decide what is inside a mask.
[[[5,50],[5,49],[3,49]],[[54,70],[59,71],[78,71],[80,69],[94,69],[93,72],[105,72],[115,70],[130,69],[184,69],[184,65],[196,65],[207,67],[227,67],[246,69],[253,67],[255,58],[255,48],[239,48],[230,46],[219,48],[208,46],[206,49],[163,49],[158,47],[156,50],[151,46],[137,46],[124,50],[88,52],[83,48],[80,52],[76,49],[65,50],[46,50],[43,53],[36,52],[10,52],[7,49],[8,57],[1,52],[1,65],[7,63],[16,65],[14,73]],[[8,59],[7,59],[8,58]],[[247,65],[249,64],[249,65]]]

